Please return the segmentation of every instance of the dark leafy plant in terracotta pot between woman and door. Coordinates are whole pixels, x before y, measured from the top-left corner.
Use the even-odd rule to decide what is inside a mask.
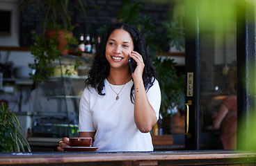
[[[185,76],[177,73],[174,59],[154,60],[161,88],[161,124],[163,133],[184,133]]]

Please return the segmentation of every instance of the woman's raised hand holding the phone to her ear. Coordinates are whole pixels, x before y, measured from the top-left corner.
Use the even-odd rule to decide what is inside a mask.
[[[137,64],[137,66],[134,70],[134,73],[131,73],[131,77],[133,79],[136,79],[138,77],[142,77],[145,64],[143,62],[143,58],[142,58],[141,54],[139,54],[139,53],[137,53],[136,51],[133,50],[133,51],[131,51],[131,53],[129,53],[129,57],[132,57],[135,60],[136,64]]]

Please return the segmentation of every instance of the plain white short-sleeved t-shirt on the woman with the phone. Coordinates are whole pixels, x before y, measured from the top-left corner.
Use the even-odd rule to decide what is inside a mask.
[[[84,89],[79,107],[79,132],[96,131],[94,147],[97,151],[152,151],[152,138],[150,133],[142,133],[134,122],[134,104],[130,100],[131,80],[124,85],[112,85],[112,89],[119,93],[119,99],[115,100],[116,93],[104,80],[104,88],[99,95],[90,87]],[[147,98],[153,107],[157,119],[161,104],[161,92],[159,83],[147,91]]]

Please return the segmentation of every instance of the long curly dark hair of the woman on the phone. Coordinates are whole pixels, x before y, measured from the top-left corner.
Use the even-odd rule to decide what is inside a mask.
[[[86,87],[88,88],[88,86],[91,86],[98,92],[99,95],[105,95],[105,93],[102,93],[103,87],[105,86],[104,79],[109,76],[110,71],[110,65],[105,55],[106,43],[111,33],[113,33],[113,31],[116,29],[123,29],[129,33],[132,41],[134,42],[134,50],[136,50],[143,57],[143,62],[145,64],[143,70],[143,83],[145,90],[147,91],[153,85],[153,82],[157,77],[157,71],[154,70],[152,59],[149,54],[149,48],[144,37],[135,26],[122,23],[114,24],[102,35],[101,42],[99,43],[96,51],[93,66],[90,69],[88,78],[86,79]],[[131,87],[130,93],[131,102],[134,103],[134,95],[132,95],[132,91],[134,91],[134,85]]]

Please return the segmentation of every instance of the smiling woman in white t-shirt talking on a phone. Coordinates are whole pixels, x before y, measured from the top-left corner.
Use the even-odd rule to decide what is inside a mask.
[[[134,73],[128,59],[137,64]],[[129,24],[102,36],[79,107],[79,137],[97,151],[152,151],[150,131],[159,118],[161,92],[145,39]],[[69,146],[63,138],[58,147]]]

